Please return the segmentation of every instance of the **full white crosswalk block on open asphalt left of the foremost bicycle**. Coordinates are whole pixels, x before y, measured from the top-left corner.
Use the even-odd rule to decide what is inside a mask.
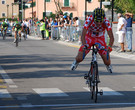
[[[33,90],[41,97],[68,96],[58,88],[34,88]]]

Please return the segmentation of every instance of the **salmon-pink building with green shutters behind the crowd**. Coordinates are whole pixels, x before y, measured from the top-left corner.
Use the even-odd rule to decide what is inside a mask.
[[[59,4],[57,4],[58,1]],[[49,16],[50,13],[56,14],[61,9],[64,14],[84,19],[85,13],[91,14],[95,8],[100,7],[100,0],[90,0],[90,2],[86,0],[46,0],[46,2],[45,0],[33,0],[33,8],[32,0],[29,0],[26,6],[25,18],[32,17],[33,12],[33,17],[42,19],[45,12],[45,15]],[[102,7],[104,8],[104,5]]]

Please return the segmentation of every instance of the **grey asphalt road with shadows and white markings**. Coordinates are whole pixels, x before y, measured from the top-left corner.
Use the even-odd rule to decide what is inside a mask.
[[[22,39],[15,47],[13,37],[0,37],[0,109],[134,110],[135,61],[113,54],[110,74],[99,57],[104,93],[94,103],[83,78],[91,54],[71,71],[77,52],[77,47],[53,40]]]

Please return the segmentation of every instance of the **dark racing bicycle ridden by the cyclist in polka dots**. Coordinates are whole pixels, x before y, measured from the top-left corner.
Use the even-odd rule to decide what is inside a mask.
[[[85,54],[85,50],[86,49],[84,49],[84,54]],[[97,95],[98,94],[103,95],[103,90],[102,89],[100,91],[98,90],[98,84],[100,83],[100,79],[99,79],[99,72],[98,72],[97,53],[99,50],[106,50],[106,49],[98,48],[97,44],[94,44],[91,49],[87,49],[87,50],[92,50],[92,60],[90,63],[90,70],[88,74],[84,75],[84,79],[86,79],[86,83],[88,84],[88,87],[90,88],[91,99],[93,99],[96,103]],[[107,51],[107,60],[108,60],[108,55],[109,55],[109,52]],[[83,59],[84,59],[84,56],[85,55],[83,55]]]

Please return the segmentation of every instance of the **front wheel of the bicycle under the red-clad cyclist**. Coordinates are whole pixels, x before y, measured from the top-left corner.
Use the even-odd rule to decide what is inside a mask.
[[[91,80],[91,99],[97,102],[97,94],[98,94],[98,64],[94,62],[92,65],[92,80]]]

